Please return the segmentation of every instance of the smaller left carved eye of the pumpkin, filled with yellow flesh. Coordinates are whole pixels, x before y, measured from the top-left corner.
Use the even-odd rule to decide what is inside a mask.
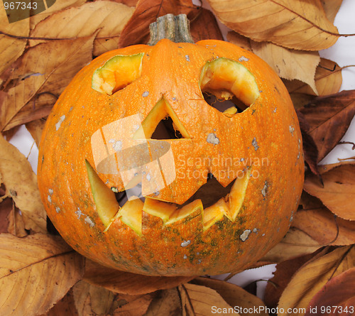
[[[111,95],[141,76],[143,53],[117,55],[97,68],[92,75],[92,89]]]

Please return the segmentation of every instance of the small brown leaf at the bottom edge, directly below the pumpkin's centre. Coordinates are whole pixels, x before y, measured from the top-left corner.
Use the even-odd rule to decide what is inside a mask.
[[[181,301],[177,288],[160,290],[155,293],[151,305],[145,316],[180,316],[182,314]]]

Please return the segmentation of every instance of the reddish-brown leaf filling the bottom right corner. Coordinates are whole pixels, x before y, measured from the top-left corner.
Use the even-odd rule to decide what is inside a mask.
[[[342,315],[342,312],[344,315],[353,314],[354,303],[355,268],[351,268],[323,286],[310,301],[305,316],[315,315],[315,311],[316,315]]]

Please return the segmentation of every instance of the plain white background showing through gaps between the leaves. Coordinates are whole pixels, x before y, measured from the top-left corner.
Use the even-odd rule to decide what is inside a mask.
[[[200,1],[194,1],[196,4],[200,4]],[[209,6],[204,1],[204,6],[208,9]],[[351,34],[355,33],[355,1],[354,0],[343,0],[342,6],[335,18],[334,24],[337,26],[340,34]],[[222,33],[224,36],[228,31],[228,28],[221,26]],[[327,58],[337,62],[340,67],[346,65],[355,65],[355,36],[341,37],[331,48],[327,50],[322,50],[320,52],[321,57]],[[342,90],[355,89],[355,67],[349,67],[342,70],[343,84]],[[342,141],[353,141],[355,142],[355,119],[353,119],[349,130],[346,132]],[[38,148],[35,145],[33,138],[28,133],[25,127],[21,126],[21,129],[16,133],[15,136],[10,141],[15,145],[21,153],[30,161],[33,170],[36,172],[37,169],[37,159],[38,159]],[[329,153],[329,155],[322,160],[322,164],[326,163],[337,163],[338,158],[348,158],[355,156],[355,151],[351,150],[351,145],[344,144],[338,145],[334,150]],[[245,286],[254,280],[267,280],[273,276],[273,271],[275,271],[275,265],[265,266],[262,268],[256,268],[249,271],[244,271],[234,276],[229,280],[231,283],[235,283],[240,286]],[[216,276],[215,278],[223,279],[226,275]],[[258,296],[263,296],[263,290],[266,286],[265,281],[258,282]]]

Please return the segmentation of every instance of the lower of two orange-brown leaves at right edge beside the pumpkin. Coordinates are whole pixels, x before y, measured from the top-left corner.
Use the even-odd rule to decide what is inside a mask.
[[[302,209],[296,212],[293,227],[305,231],[323,245],[355,244],[355,222],[335,216],[315,197],[303,195],[302,200],[305,198],[307,202],[303,202]]]

